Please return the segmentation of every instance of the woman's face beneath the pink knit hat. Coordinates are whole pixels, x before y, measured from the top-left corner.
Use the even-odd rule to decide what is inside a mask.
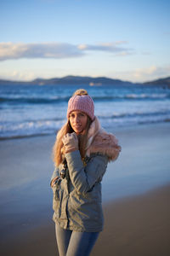
[[[85,131],[87,122],[88,122],[88,115],[81,111],[72,111],[69,116],[69,120],[71,123],[72,129],[77,134],[82,134]]]

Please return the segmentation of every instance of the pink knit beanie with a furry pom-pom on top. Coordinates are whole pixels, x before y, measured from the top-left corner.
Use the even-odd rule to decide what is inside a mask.
[[[76,90],[68,102],[67,119],[72,111],[87,113],[90,119],[94,120],[94,101],[84,89]]]

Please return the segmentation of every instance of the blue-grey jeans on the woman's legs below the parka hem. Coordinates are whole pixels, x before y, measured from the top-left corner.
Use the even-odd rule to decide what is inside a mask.
[[[55,232],[59,256],[88,256],[99,236],[99,232],[64,230],[59,224],[55,224]]]

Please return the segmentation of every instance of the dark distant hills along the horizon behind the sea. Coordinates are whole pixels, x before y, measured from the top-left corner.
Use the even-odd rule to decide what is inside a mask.
[[[80,76],[66,76],[64,78],[54,78],[54,79],[35,79],[32,81],[10,81],[0,79],[0,84],[23,84],[23,85],[90,85],[90,86],[101,86],[101,85],[130,85],[134,83],[128,81],[122,81],[120,79],[108,79],[105,77],[92,78],[92,77],[80,77]],[[140,83],[138,83],[140,84]],[[165,79],[157,79],[154,81],[148,81],[141,83],[141,85],[156,85],[165,86],[170,88],[170,77]]]

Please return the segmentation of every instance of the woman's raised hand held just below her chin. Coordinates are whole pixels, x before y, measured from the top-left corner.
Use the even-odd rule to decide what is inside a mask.
[[[65,146],[65,153],[78,150],[78,138],[75,132],[65,134],[62,142]]]

